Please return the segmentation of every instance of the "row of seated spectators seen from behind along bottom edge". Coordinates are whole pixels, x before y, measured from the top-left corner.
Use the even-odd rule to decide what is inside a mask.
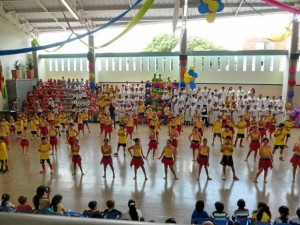
[[[15,206],[10,202],[10,195],[3,194],[0,206],[0,212],[18,212],[18,213],[36,213],[44,215],[57,215],[57,216],[75,216],[75,217],[89,217],[89,218],[102,218],[102,219],[123,219],[132,221],[145,221],[141,210],[136,208],[134,200],[128,201],[129,210],[122,213],[115,209],[115,202],[108,200],[106,202],[107,208],[103,211],[98,210],[97,201],[90,201],[88,204],[89,209],[81,212],[66,211],[63,204],[63,197],[59,194],[54,195],[50,201],[51,188],[39,186],[36,190],[36,195],[33,197],[33,207],[28,204],[27,196],[20,196],[18,198],[19,205]],[[296,210],[296,216],[289,216],[289,208],[287,206],[280,206],[278,209],[279,216],[272,219],[272,214],[268,205],[264,202],[259,202],[257,209],[253,211],[250,217],[249,210],[243,199],[237,201],[237,209],[230,218],[224,209],[222,202],[215,203],[215,211],[209,215],[204,210],[205,204],[202,200],[196,202],[195,209],[191,216],[191,224],[203,224],[207,221],[216,225],[247,225],[253,223],[256,225],[270,225],[274,224],[292,224],[300,225],[300,207]],[[154,222],[151,220],[151,222]],[[166,223],[176,223],[174,218],[169,218]],[[209,225],[209,223],[205,223]]]

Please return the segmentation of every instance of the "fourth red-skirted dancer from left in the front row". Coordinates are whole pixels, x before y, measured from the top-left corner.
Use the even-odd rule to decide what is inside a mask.
[[[172,146],[172,140],[167,140],[167,145],[164,147],[159,160],[162,158],[161,162],[164,164],[165,168],[165,177],[164,179],[167,180],[168,178],[168,167],[170,168],[171,172],[174,175],[174,179],[178,180],[176,176],[176,172],[174,170],[174,163],[176,162],[176,151],[175,148]]]

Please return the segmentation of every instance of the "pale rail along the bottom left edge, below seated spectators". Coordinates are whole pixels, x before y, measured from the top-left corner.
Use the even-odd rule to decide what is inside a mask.
[[[153,223],[142,222],[144,225],[153,225]],[[128,220],[106,220],[90,219],[66,216],[47,216],[35,214],[3,213],[0,212],[0,224],[13,225],[136,225],[141,222]],[[155,223],[159,225],[159,223]]]

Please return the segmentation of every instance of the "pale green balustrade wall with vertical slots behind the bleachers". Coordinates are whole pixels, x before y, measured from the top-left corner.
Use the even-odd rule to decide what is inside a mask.
[[[196,71],[207,83],[234,83],[237,77],[224,77],[238,73],[239,81],[247,83],[249,74],[258,83],[282,84],[287,51],[213,51],[188,53],[188,65],[195,65]],[[45,63],[45,74],[88,77],[86,54],[40,55]],[[96,80],[118,82],[150,79],[153,73],[179,78],[179,53],[106,53],[96,54]],[[219,75],[218,75],[219,74]],[[243,75],[244,74],[244,75]],[[266,76],[262,76],[266,75]],[[220,76],[222,79],[220,80]],[[272,79],[270,79],[272,76]],[[144,78],[144,79],[141,79]],[[265,79],[264,79],[265,78]],[[259,81],[260,80],[260,81]]]

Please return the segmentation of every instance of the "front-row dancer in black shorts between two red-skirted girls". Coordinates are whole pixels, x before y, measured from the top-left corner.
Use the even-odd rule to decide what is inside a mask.
[[[233,153],[232,140],[230,136],[225,138],[225,143],[221,146],[221,152],[223,153],[223,157],[221,160],[221,165],[223,165],[223,180],[226,180],[226,166],[231,167],[233,173],[233,179],[239,180],[239,178],[235,174],[235,169],[233,165],[232,153]]]

